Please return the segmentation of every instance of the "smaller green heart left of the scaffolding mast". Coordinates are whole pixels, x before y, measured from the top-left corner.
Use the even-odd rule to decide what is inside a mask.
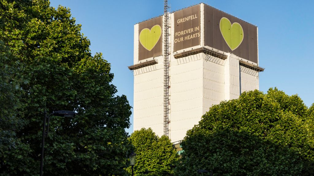
[[[160,25],[154,25],[150,30],[149,28],[143,29],[139,34],[139,42],[147,50],[152,50],[157,44],[161,36]]]

